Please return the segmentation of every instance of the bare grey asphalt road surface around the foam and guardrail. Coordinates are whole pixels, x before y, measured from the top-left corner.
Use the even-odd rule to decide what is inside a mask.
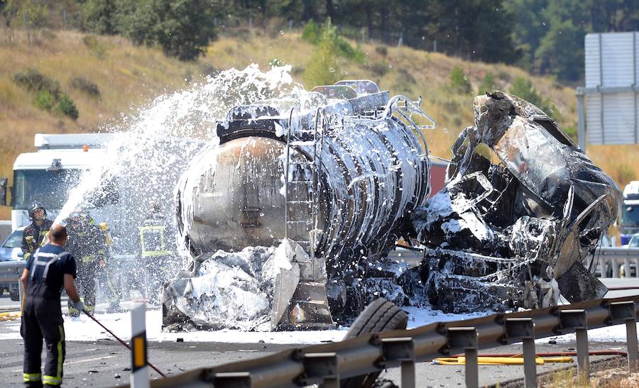
[[[603,279],[608,287],[639,285],[639,279]],[[639,294],[639,290],[610,292],[606,297]],[[17,306],[8,295],[0,297],[0,309]],[[6,323],[0,322],[0,332]],[[310,333],[310,335],[312,335]],[[167,375],[176,375],[198,367],[211,367],[227,362],[246,360],[269,355],[295,345],[281,344],[236,344],[236,343],[149,343],[149,360]],[[574,343],[550,344],[547,340],[537,343],[537,352],[557,352],[573,350]],[[596,343],[591,341],[591,350],[625,350],[625,343]],[[482,353],[518,353],[519,345],[503,346]],[[0,377],[2,387],[21,387],[23,357],[22,340],[0,340]],[[115,340],[103,339],[95,342],[67,342],[65,362],[66,387],[105,387],[128,384],[130,353]],[[592,357],[596,360],[597,357]],[[538,366],[538,372],[566,367],[566,364]],[[451,365],[431,365],[422,362],[416,366],[418,387],[458,387],[464,386],[464,367]],[[399,368],[383,372],[383,377],[400,382]],[[159,377],[151,370],[151,377]],[[523,377],[521,366],[480,366],[481,386],[505,382]]]

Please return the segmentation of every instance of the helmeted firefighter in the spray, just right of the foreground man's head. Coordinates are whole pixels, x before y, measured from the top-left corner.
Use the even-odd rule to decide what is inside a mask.
[[[66,249],[77,257],[77,277],[80,295],[87,312],[95,311],[95,279],[101,262],[106,260],[107,240],[104,231],[87,211],[73,211],[67,218],[69,240]],[[80,311],[69,301],[69,315],[80,316]]]

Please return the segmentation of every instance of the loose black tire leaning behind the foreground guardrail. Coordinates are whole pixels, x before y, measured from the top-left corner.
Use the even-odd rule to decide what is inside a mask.
[[[346,333],[344,339],[353,338],[366,333],[380,333],[382,331],[391,331],[395,329],[406,328],[408,324],[408,314],[406,314],[398,306],[384,298],[378,298],[366,309],[359,314],[355,322],[351,325],[349,332]],[[371,373],[351,377],[342,380],[340,387],[356,388],[356,387],[373,387],[375,380],[380,372]]]

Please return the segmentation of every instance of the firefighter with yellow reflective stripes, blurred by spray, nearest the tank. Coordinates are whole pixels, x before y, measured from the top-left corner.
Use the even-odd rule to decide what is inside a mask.
[[[172,251],[168,249],[166,223],[160,205],[151,204],[149,216],[138,227],[140,262],[144,266],[145,292],[150,303],[159,303],[161,286],[168,276]],[[172,240],[171,240],[172,241]]]

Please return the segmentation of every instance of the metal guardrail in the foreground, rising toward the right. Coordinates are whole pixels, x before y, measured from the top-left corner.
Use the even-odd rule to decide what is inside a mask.
[[[293,348],[253,360],[205,367],[154,380],[152,387],[339,387],[349,377],[401,367],[401,387],[415,387],[415,363],[465,353],[466,387],[478,387],[479,349],[523,343],[526,387],[536,387],[535,338],[577,333],[577,367],[589,375],[588,330],[626,323],[628,366],[638,370],[639,296],[494,314],[410,330],[369,333],[338,343]]]

